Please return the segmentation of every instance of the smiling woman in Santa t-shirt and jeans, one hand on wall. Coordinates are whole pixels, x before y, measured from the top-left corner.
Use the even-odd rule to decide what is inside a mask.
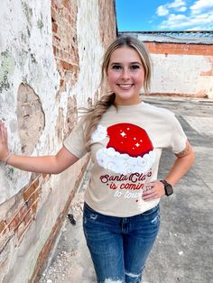
[[[141,282],[145,260],[159,231],[159,202],[194,161],[174,114],[144,103],[151,62],[144,44],[118,38],[106,50],[102,82],[110,94],[80,120],[55,156],[10,153],[0,123],[0,160],[18,169],[58,174],[88,151],[94,162],[85,194],[84,233],[97,282]],[[157,171],[163,148],[176,160],[163,180]]]

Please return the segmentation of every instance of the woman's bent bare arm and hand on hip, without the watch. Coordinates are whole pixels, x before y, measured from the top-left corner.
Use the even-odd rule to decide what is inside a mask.
[[[178,181],[186,174],[191,168],[195,160],[194,151],[190,145],[190,142],[186,142],[186,148],[180,153],[176,154],[176,160],[173,163],[169,173],[164,178],[173,187]],[[159,198],[165,195],[164,185],[159,180],[153,181],[147,184],[150,187],[148,190],[144,190],[144,201],[150,201],[154,198]]]

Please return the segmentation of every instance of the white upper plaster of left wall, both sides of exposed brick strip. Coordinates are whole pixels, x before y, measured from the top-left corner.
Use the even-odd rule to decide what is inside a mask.
[[[18,88],[25,83],[39,96],[45,115],[45,126],[32,155],[51,154],[61,146],[61,138],[58,138],[58,134],[52,134],[55,132],[59,109],[61,117],[65,119],[68,99],[72,96],[76,96],[78,107],[88,105],[88,97],[91,99],[95,94],[100,81],[103,47],[100,38],[93,36],[99,34],[98,3],[78,1],[79,79],[74,86],[67,83],[60,99],[56,99],[60,76],[52,50],[51,1],[20,0],[16,1],[15,9],[11,1],[5,1],[2,5],[1,65],[8,83],[0,93],[0,118],[8,128],[9,146],[11,151],[21,153],[16,104]],[[87,68],[83,68],[86,62],[93,64],[89,63]],[[30,177],[31,173],[0,166],[0,186],[4,188],[0,203],[14,196]]]

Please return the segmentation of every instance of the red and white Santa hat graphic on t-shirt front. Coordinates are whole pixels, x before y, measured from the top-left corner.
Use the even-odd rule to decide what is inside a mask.
[[[106,148],[97,151],[97,162],[116,173],[145,173],[155,160],[153,144],[144,129],[132,123],[116,123],[107,129],[97,126],[92,140],[109,138]]]

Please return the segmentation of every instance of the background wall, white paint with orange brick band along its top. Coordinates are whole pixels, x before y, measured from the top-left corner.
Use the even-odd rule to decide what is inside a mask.
[[[153,59],[151,95],[213,98],[213,45],[145,44]]]

